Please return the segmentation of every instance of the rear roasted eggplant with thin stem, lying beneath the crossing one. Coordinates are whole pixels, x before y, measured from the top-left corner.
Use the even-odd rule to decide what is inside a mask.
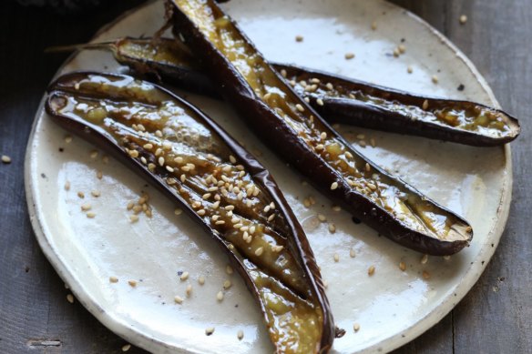
[[[178,41],[125,37],[77,47],[110,50],[120,64],[137,73],[159,76],[184,89],[217,96],[209,77],[202,74],[198,61]],[[272,66],[329,123],[364,126],[476,147],[506,144],[520,132],[516,118],[474,102],[416,96],[299,66]]]

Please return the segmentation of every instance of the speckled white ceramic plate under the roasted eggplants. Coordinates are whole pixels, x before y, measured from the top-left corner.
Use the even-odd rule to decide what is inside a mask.
[[[282,1],[232,0],[223,5],[250,35],[264,55],[280,62],[358,77],[385,86],[437,96],[452,96],[496,105],[484,79],[455,46],[422,20],[381,0]],[[162,23],[163,5],[145,5],[123,16],[95,41],[122,35],[150,35]],[[373,22],[376,30],[372,30]],[[303,35],[301,43],[296,35]],[[392,56],[402,43],[406,52]],[[344,58],[353,52],[352,60]],[[407,73],[412,66],[413,74]],[[61,70],[122,71],[110,55],[83,52]],[[437,75],[435,85],[431,76]],[[460,84],[466,90],[456,89]],[[356,148],[389,168],[436,201],[466,217],[475,230],[470,248],[445,260],[422,255],[377,237],[350,215],[334,212],[331,203],[302,176],[271,155],[240,124],[225,104],[200,96],[189,99],[244,142],[279,182],[295,214],[307,231],[329,296],[336,324],[346,335],[334,342],[334,351],[387,351],[414,339],[442,319],[473,286],[496,249],[506,223],[511,192],[509,147],[475,148],[416,137],[404,137],[342,126],[340,131]],[[359,147],[355,136],[374,138],[376,147]],[[227,259],[211,239],[190,220],[175,216],[166,197],[102,154],[91,158],[94,147],[47,119],[42,107],[29,139],[26,194],[36,237],[46,257],[76,298],[118,335],[154,352],[271,352],[259,310],[235,275],[224,271]],[[59,152],[62,147],[64,152]],[[103,178],[97,178],[97,171]],[[70,190],[65,189],[66,182]],[[98,190],[101,197],[92,197]],[[85,198],[77,197],[77,192]],[[126,206],[148,191],[153,218],[131,224]],[[316,204],[303,207],[305,197]],[[87,218],[80,205],[90,202],[95,218]],[[322,213],[336,225],[331,234]],[[355,258],[350,258],[353,248]],[[334,262],[333,255],[340,256]],[[398,263],[403,261],[406,270]],[[373,277],[367,275],[370,266]],[[189,271],[188,281],[178,272]],[[422,272],[430,278],[422,277]],[[204,286],[197,278],[206,277]],[[118,277],[110,283],[109,277]],[[224,279],[234,283],[219,303],[216,294]],[[138,281],[132,288],[128,280]],[[192,284],[191,298],[182,305]],[[353,323],[360,324],[358,332]],[[215,327],[212,336],[204,331]],[[244,339],[237,339],[237,331]]]

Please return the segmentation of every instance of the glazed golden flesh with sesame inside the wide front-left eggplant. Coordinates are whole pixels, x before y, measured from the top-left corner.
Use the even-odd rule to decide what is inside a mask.
[[[288,227],[220,137],[145,82],[93,75],[62,88],[57,114],[105,131],[230,245],[257,289],[277,348],[315,351],[322,308],[283,235]]]

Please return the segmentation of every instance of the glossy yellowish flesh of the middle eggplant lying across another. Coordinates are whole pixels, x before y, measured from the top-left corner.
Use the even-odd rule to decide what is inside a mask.
[[[375,170],[371,162],[312,116],[302,99],[285,88],[281,78],[264,63],[227,16],[210,7],[209,2],[175,0],[174,3],[230,60],[257,99],[270,106],[292,128],[294,135],[333,168],[339,182],[345,182],[408,228],[446,241],[469,238],[471,228],[461,220]]]

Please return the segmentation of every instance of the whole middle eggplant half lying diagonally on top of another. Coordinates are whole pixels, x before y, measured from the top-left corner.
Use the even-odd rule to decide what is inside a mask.
[[[268,146],[354,217],[396,242],[433,255],[464,248],[473,235],[438,206],[366,159],[297,96],[213,1],[174,0],[174,35]]]

